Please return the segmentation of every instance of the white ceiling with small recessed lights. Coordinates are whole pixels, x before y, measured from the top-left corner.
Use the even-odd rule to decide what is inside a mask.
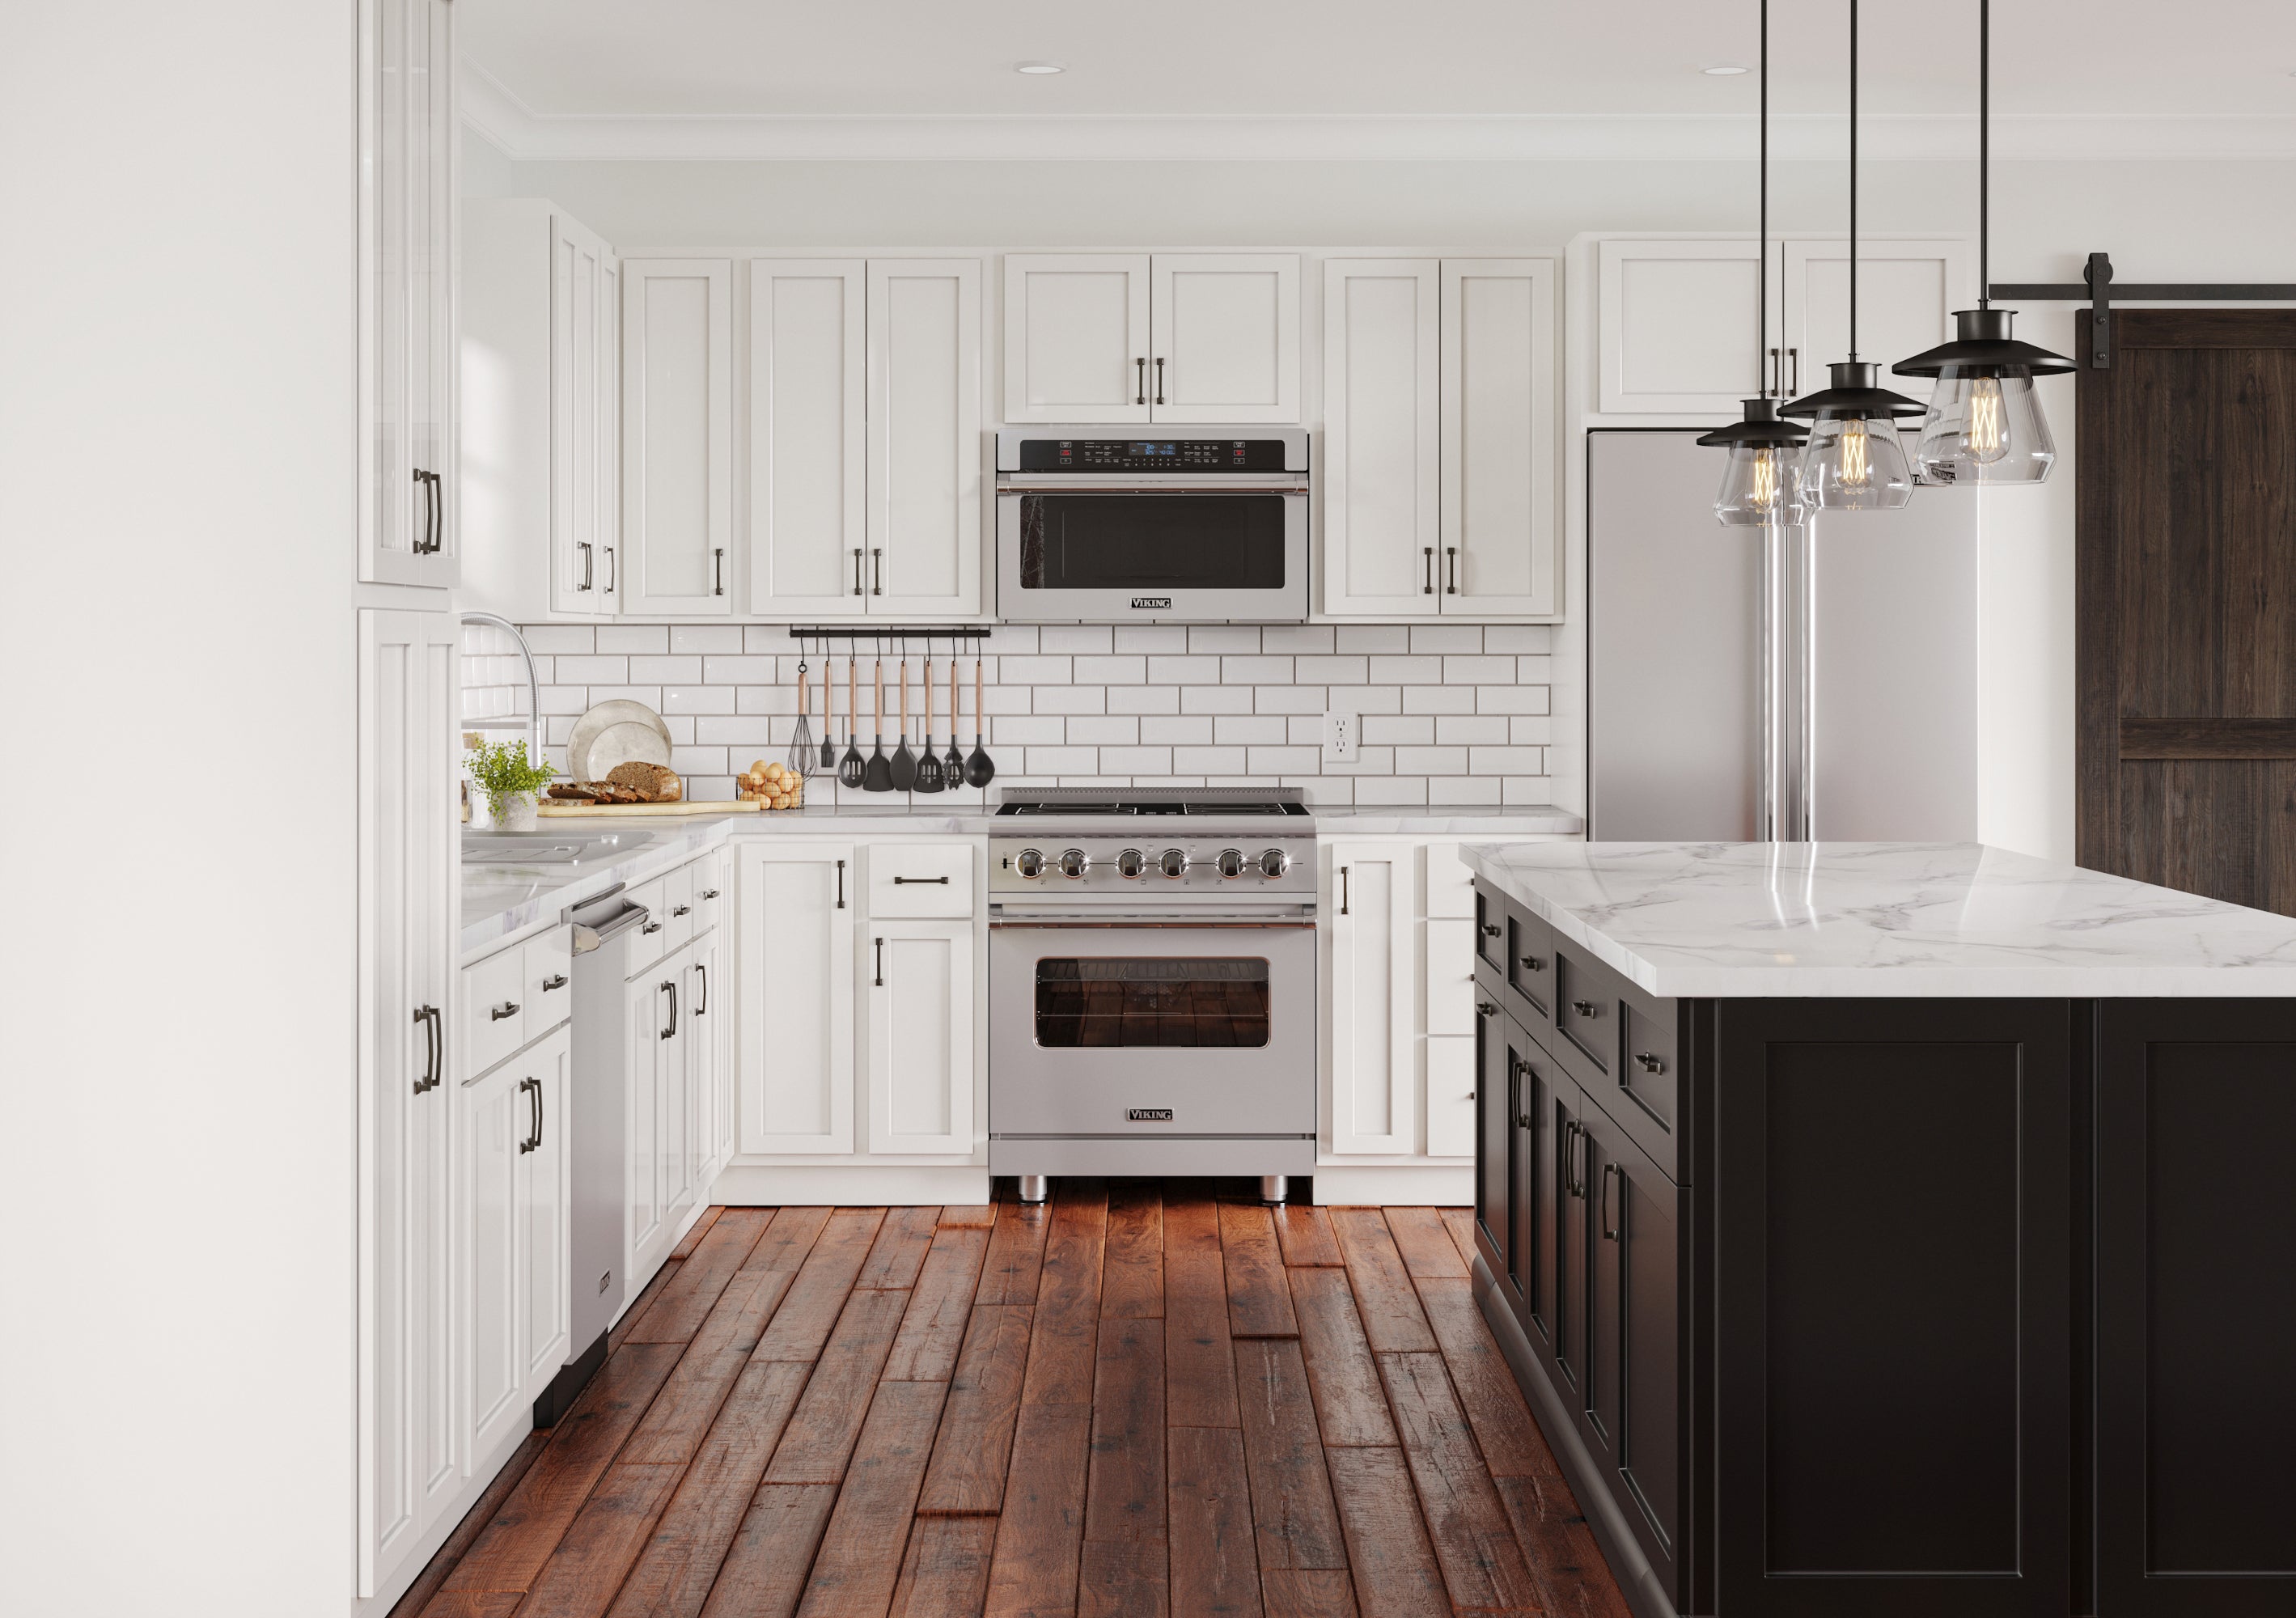
[[[928,138],[946,119],[1047,131],[1348,119],[1373,124],[1355,140],[1401,133],[1405,147],[1428,119],[1536,126],[1545,145],[1655,119],[1692,156],[1692,131],[1750,119],[1756,96],[1752,73],[1699,71],[1754,62],[1754,0],[461,0],[457,14],[478,69],[473,117],[517,156],[737,156],[771,147],[776,124],[891,122]],[[1770,7],[1773,110],[1789,149],[1798,115],[1839,124],[1846,23],[1846,0]],[[1883,145],[1892,129],[1968,124],[1977,0],[1867,5],[1862,46],[1862,110]],[[1013,71],[1031,57],[1068,71]],[[2078,149],[2076,126],[2096,119],[2119,129],[2122,147],[2131,129],[2167,124],[2186,126],[2170,145],[2193,145],[2195,124],[2202,147],[2278,145],[2264,129],[2296,124],[2291,73],[2287,0],[2004,0],[1993,16],[2004,149],[2050,124],[2043,145]],[[1398,129],[1380,135],[1380,119]]]

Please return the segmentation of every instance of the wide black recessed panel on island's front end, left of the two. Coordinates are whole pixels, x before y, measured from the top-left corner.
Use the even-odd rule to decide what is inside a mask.
[[[1717,1003],[1722,1613],[2069,1611],[2071,1019]]]

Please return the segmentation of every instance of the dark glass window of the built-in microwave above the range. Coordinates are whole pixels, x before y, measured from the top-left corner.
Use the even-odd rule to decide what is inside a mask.
[[[1024,493],[1024,590],[1281,590],[1283,493]]]

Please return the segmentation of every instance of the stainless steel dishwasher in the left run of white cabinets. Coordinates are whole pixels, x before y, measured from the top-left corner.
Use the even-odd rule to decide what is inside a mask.
[[[565,920],[574,923],[574,1076],[567,1115],[567,1168],[574,1180],[574,1207],[567,1214],[574,1329],[567,1340],[574,1347],[535,1400],[537,1428],[553,1425],[606,1363],[606,1329],[622,1313],[622,1175],[629,1129],[622,1026],[629,1008],[622,980],[629,975],[629,941],[645,925],[645,907],[622,888],[618,881],[565,911]]]

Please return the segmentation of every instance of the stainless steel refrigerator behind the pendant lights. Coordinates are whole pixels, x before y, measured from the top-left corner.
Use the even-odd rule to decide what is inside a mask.
[[[1694,436],[1587,436],[1587,835],[1975,840],[1975,498],[1818,514],[1766,567]]]

